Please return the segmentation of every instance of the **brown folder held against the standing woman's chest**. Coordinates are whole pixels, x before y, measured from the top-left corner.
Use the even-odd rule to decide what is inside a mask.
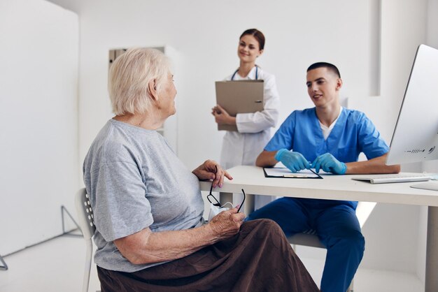
[[[216,81],[216,103],[229,115],[263,110],[264,80]],[[219,125],[219,131],[237,131],[236,125]]]

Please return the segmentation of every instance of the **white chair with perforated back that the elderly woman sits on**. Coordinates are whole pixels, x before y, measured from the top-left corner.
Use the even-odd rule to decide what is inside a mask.
[[[87,245],[87,254],[85,257],[85,270],[82,291],[88,292],[90,283],[91,261],[93,253],[92,237],[96,226],[94,226],[93,210],[90,205],[90,198],[85,188],[80,189],[75,198],[76,212],[78,212],[79,226],[84,235],[85,244]]]

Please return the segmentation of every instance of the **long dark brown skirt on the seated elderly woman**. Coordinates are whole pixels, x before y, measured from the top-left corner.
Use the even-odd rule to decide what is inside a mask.
[[[269,219],[248,221],[232,238],[194,254],[138,272],[97,267],[102,292],[319,291]]]

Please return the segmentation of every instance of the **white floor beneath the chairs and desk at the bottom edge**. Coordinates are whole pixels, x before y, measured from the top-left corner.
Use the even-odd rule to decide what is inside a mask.
[[[1,292],[78,292],[83,279],[85,242],[82,238],[64,235],[4,259],[9,270],[0,270]],[[302,261],[319,284],[323,263],[306,258]],[[356,273],[354,288],[355,292],[424,291],[424,285],[414,275],[361,268]],[[99,290],[94,266],[89,291]]]

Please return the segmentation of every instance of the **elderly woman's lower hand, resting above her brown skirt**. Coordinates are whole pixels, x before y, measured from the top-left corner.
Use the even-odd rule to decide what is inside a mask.
[[[206,225],[212,229],[218,240],[225,240],[239,232],[243,219],[245,219],[245,214],[238,213],[237,209],[237,207],[234,207],[220,212]]]

